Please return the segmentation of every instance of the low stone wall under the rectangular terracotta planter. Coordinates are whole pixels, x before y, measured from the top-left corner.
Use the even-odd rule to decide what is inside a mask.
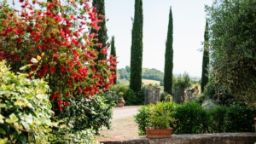
[[[148,139],[145,136],[125,141],[100,141],[104,144],[256,144],[256,133],[218,133],[172,135],[170,139]]]

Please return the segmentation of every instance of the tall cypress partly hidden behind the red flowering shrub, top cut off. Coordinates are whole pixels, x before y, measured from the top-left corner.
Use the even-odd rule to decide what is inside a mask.
[[[105,15],[105,0],[93,0],[92,6],[96,8],[96,12],[98,14],[98,17],[100,18],[100,15]],[[101,27],[99,31],[91,30],[91,33],[94,32],[98,34],[98,41],[95,43],[102,43],[102,47],[95,46],[95,49],[99,52],[98,60],[106,60],[107,55],[103,55],[101,53],[101,49],[104,47],[108,47],[109,44],[107,43],[108,40],[108,34],[107,34],[107,27],[106,27],[106,20],[103,19],[101,23],[98,24],[98,26]]]

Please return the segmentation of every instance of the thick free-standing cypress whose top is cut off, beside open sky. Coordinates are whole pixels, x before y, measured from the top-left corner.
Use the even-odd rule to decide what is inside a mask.
[[[131,32],[130,88],[138,92],[142,86],[143,71],[143,0],[135,0],[134,19]]]

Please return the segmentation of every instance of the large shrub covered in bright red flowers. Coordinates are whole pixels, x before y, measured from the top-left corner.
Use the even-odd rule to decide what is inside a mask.
[[[102,46],[93,43],[96,34],[90,33],[100,29],[96,9],[87,0],[61,2],[20,1],[20,10],[0,7],[6,15],[1,20],[0,60],[31,79],[45,78],[59,111],[69,106],[70,96],[90,98],[108,89],[116,77],[110,71],[116,68],[115,57],[96,62],[98,52],[92,46]],[[102,54],[108,55],[107,48]]]

